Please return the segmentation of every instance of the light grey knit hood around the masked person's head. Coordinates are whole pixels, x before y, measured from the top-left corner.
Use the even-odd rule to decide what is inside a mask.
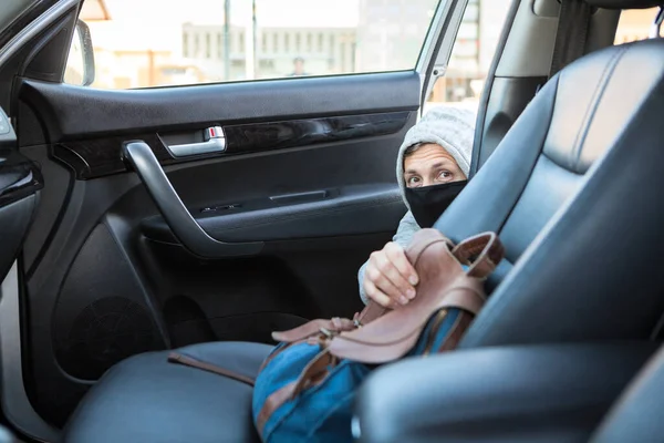
[[[396,159],[396,179],[406,202],[406,184],[404,183],[404,153],[413,145],[433,143],[440,145],[468,176],[475,138],[476,114],[452,105],[436,105],[406,133],[404,143],[398,150]],[[408,206],[408,202],[406,202]]]

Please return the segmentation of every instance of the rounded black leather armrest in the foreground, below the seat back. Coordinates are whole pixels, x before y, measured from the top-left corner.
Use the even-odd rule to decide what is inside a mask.
[[[655,349],[526,346],[408,359],[362,388],[360,441],[584,442]]]

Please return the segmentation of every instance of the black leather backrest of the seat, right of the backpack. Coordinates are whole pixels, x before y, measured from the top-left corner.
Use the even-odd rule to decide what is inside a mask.
[[[642,339],[664,310],[664,41],[608,48],[541,90],[436,224],[506,260],[463,347]]]

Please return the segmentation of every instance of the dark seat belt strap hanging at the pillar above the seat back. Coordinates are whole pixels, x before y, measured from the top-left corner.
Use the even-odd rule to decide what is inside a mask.
[[[583,55],[592,18],[592,7],[584,0],[559,0],[559,3],[560,13],[549,79]]]

